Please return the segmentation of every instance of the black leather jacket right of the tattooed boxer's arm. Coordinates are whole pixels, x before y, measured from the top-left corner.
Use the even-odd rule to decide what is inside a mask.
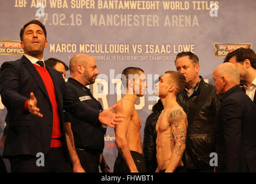
[[[183,163],[188,169],[210,168],[210,153],[215,152],[214,118],[220,100],[216,89],[205,83],[200,76],[198,88],[188,97],[184,90],[177,97],[177,102],[187,114],[188,129]]]

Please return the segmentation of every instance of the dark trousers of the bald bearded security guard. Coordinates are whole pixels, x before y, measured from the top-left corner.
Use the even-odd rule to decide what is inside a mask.
[[[76,148],[81,166],[86,173],[99,173],[99,156],[101,153]]]

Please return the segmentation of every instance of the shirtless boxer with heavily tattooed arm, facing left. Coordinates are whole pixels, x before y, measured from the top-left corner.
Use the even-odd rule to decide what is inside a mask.
[[[155,127],[157,131],[156,172],[173,173],[185,171],[181,161],[185,150],[187,116],[176,101],[177,95],[185,88],[185,77],[176,71],[166,71],[155,85],[164,105]]]

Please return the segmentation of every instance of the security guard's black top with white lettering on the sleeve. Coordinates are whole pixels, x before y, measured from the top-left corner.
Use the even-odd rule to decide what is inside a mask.
[[[90,89],[83,86],[80,82],[76,81],[76,79],[69,78],[66,85],[81,102],[98,111],[103,110],[101,103],[92,96]],[[76,148],[83,148],[86,151],[91,152],[103,152],[106,125],[103,125],[100,122],[92,125],[90,122],[87,122],[87,120],[81,121],[68,112],[65,112],[64,117],[66,122],[71,122],[71,129]]]

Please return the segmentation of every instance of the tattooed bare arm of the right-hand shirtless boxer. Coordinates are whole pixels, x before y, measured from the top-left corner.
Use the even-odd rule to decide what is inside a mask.
[[[175,140],[175,147],[173,148],[172,157],[166,173],[173,173],[178,166],[185,151],[185,138],[187,136],[187,116],[180,109],[173,110],[169,116],[169,123],[172,127],[172,136]]]

